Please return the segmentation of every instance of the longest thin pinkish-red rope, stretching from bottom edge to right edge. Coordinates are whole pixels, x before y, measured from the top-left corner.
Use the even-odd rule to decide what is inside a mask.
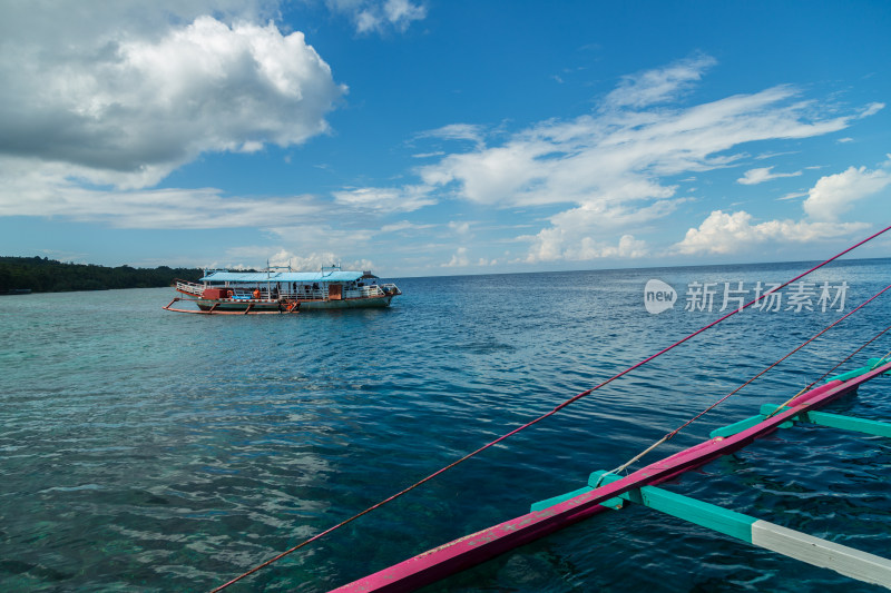
[[[471,458],[471,457],[473,457],[473,456],[476,456],[476,455],[478,455],[478,454],[482,453],[483,451],[486,451],[486,449],[488,449],[488,448],[490,448],[490,447],[493,447],[493,446],[495,446],[495,445],[497,445],[498,443],[500,443],[500,442],[505,441],[506,438],[509,438],[509,437],[513,436],[515,434],[519,433],[520,431],[525,431],[526,428],[528,428],[528,427],[532,426],[533,424],[538,424],[539,422],[544,421],[545,418],[548,418],[548,417],[552,416],[554,414],[556,414],[557,412],[559,412],[560,409],[565,408],[566,406],[568,406],[568,405],[570,405],[570,404],[572,404],[572,403],[575,403],[575,402],[578,402],[578,401],[579,401],[579,399],[581,399],[582,397],[585,397],[585,396],[587,396],[587,395],[590,395],[591,393],[596,392],[597,389],[599,389],[599,388],[601,388],[601,387],[604,387],[604,386],[606,386],[606,385],[609,385],[610,383],[613,383],[613,382],[614,382],[614,380],[616,380],[617,378],[619,378],[619,377],[623,377],[623,376],[627,375],[628,373],[630,373],[631,370],[634,370],[634,369],[636,369],[636,368],[639,368],[639,367],[644,366],[645,364],[649,363],[650,360],[653,360],[654,358],[656,358],[656,357],[658,357],[658,356],[662,356],[663,354],[667,353],[668,350],[672,350],[672,349],[676,348],[677,346],[681,346],[682,344],[684,344],[684,343],[685,343],[685,342],[687,342],[688,339],[692,339],[692,338],[694,338],[694,337],[698,336],[699,334],[702,334],[702,333],[703,333],[703,332],[705,332],[706,329],[709,329],[709,328],[712,328],[712,327],[716,326],[717,324],[722,323],[723,320],[727,319],[728,317],[732,317],[733,315],[736,315],[737,313],[742,312],[743,309],[745,309],[745,308],[747,308],[747,307],[750,307],[750,306],[754,305],[755,303],[757,303],[757,302],[758,302],[758,300],[761,300],[762,298],[765,298],[767,295],[770,295],[770,294],[773,294],[773,293],[775,293],[775,291],[777,291],[777,290],[780,290],[780,289],[782,289],[782,288],[784,288],[784,287],[789,286],[790,284],[792,284],[792,283],[794,283],[794,281],[796,281],[796,280],[799,280],[799,279],[801,279],[801,278],[803,278],[803,277],[807,276],[809,274],[811,274],[811,273],[813,273],[813,271],[815,271],[815,270],[817,270],[817,269],[822,268],[823,266],[825,266],[825,265],[826,265],[826,264],[829,264],[830,261],[834,261],[835,259],[840,258],[841,256],[845,255],[846,253],[849,253],[849,251],[852,251],[853,249],[856,249],[858,247],[860,247],[861,245],[863,245],[863,244],[865,244],[865,243],[868,243],[868,241],[871,241],[872,239],[874,239],[875,237],[878,237],[878,236],[882,235],[883,233],[885,233],[885,231],[888,231],[888,230],[891,230],[891,226],[883,228],[882,230],[880,230],[879,233],[875,233],[874,235],[871,235],[870,237],[866,237],[865,239],[861,240],[860,243],[858,243],[858,244],[855,244],[855,245],[853,245],[853,246],[849,247],[848,249],[845,249],[845,250],[843,250],[843,251],[841,251],[841,253],[839,253],[839,254],[836,254],[836,255],[832,256],[831,258],[826,259],[826,260],[825,260],[825,261],[823,261],[822,264],[819,264],[819,265],[816,265],[816,266],[812,267],[811,269],[809,269],[807,271],[805,271],[805,273],[803,273],[803,274],[800,274],[800,275],[795,276],[795,277],[794,277],[794,278],[792,278],[791,280],[787,280],[787,281],[783,283],[782,285],[780,285],[780,286],[777,286],[777,287],[775,287],[775,288],[773,288],[773,289],[771,289],[771,290],[768,290],[768,291],[764,293],[764,294],[763,294],[763,295],[761,295],[760,297],[757,297],[757,298],[755,298],[755,299],[753,299],[753,300],[750,300],[748,303],[746,303],[745,305],[743,305],[743,306],[742,306],[742,307],[740,307],[738,309],[734,309],[734,310],[730,312],[728,314],[724,315],[723,317],[721,317],[721,318],[718,318],[718,319],[716,319],[716,320],[712,322],[711,324],[708,324],[708,325],[706,325],[706,326],[703,326],[703,327],[701,327],[701,328],[699,328],[699,329],[697,329],[696,332],[694,332],[694,333],[692,333],[692,334],[687,335],[686,337],[684,337],[684,338],[682,338],[682,339],[679,339],[679,340],[675,342],[675,343],[674,343],[674,344],[672,344],[670,346],[668,346],[668,347],[666,347],[666,348],[663,348],[663,349],[660,349],[660,350],[659,350],[659,352],[657,352],[656,354],[654,354],[654,355],[652,355],[652,356],[649,356],[649,357],[647,357],[647,358],[645,358],[645,359],[640,360],[640,362],[639,362],[639,363],[637,363],[637,364],[634,364],[634,365],[629,366],[628,368],[626,368],[625,370],[623,370],[623,372],[620,372],[620,373],[618,373],[618,374],[616,374],[616,375],[613,375],[611,377],[609,377],[608,379],[604,380],[604,382],[603,382],[603,383],[600,383],[599,385],[596,385],[595,387],[591,387],[590,389],[584,391],[584,392],[581,392],[580,394],[578,394],[578,395],[576,395],[576,396],[574,396],[574,397],[570,397],[569,399],[567,399],[566,402],[561,403],[560,405],[558,405],[557,407],[555,407],[555,408],[554,408],[554,409],[551,409],[550,412],[548,412],[548,413],[546,413],[546,414],[542,414],[541,416],[539,416],[539,417],[537,417],[537,418],[535,418],[535,419],[532,419],[532,421],[530,421],[530,422],[528,422],[528,423],[523,424],[522,426],[520,426],[520,427],[518,427],[518,428],[515,428],[513,431],[511,431],[511,432],[509,432],[509,433],[507,433],[507,434],[505,434],[505,435],[501,435],[501,436],[499,436],[498,438],[496,438],[496,439],[495,439],[495,441],[492,441],[491,443],[488,443],[488,444],[486,444],[486,445],[483,445],[483,446],[479,447],[478,449],[473,451],[472,453],[468,453],[467,455],[464,455],[464,456],[463,456],[463,457],[461,457],[460,459],[458,459],[458,461],[456,461],[456,462],[452,462],[452,463],[450,463],[449,465],[447,465],[447,466],[444,466],[444,467],[442,467],[442,468],[438,470],[437,472],[434,472],[434,473],[430,474],[429,476],[424,477],[423,480],[420,480],[420,481],[415,482],[415,483],[414,483],[414,484],[412,484],[411,486],[409,486],[409,487],[407,487],[407,488],[404,488],[404,490],[402,490],[402,491],[398,492],[396,494],[393,494],[392,496],[390,496],[390,497],[388,497],[388,498],[384,498],[383,501],[381,501],[381,502],[379,502],[379,503],[376,503],[376,504],[374,504],[374,505],[372,505],[372,506],[369,506],[368,508],[365,508],[365,510],[364,510],[364,511],[362,511],[361,513],[358,513],[358,514],[355,514],[355,515],[351,516],[350,518],[346,518],[346,520],[344,520],[344,521],[342,521],[342,522],[337,523],[336,525],[334,525],[334,526],[332,526],[332,527],[329,527],[327,530],[325,530],[325,531],[323,531],[323,532],[321,532],[321,533],[319,533],[319,534],[316,534],[316,535],[313,535],[313,536],[312,536],[312,537],[310,537],[309,540],[305,540],[304,542],[302,542],[302,543],[300,543],[300,544],[295,545],[294,547],[291,547],[291,548],[288,548],[288,550],[284,551],[284,552],[282,552],[282,553],[281,553],[281,554],[278,554],[277,556],[275,556],[275,557],[272,557],[272,559],[267,560],[267,561],[266,561],[266,562],[264,562],[263,564],[258,564],[258,565],[254,566],[254,567],[253,567],[253,569],[251,569],[249,571],[247,571],[247,572],[245,572],[245,573],[243,573],[243,574],[241,574],[241,575],[236,576],[235,579],[233,579],[233,580],[231,580],[231,581],[228,581],[228,582],[226,582],[226,583],[224,583],[224,584],[219,585],[218,587],[216,587],[216,589],[212,590],[212,591],[210,591],[210,593],[217,593],[218,591],[222,591],[222,590],[226,589],[227,586],[229,586],[229,585],[232,585],[232,584],[234,584],[234,583],[237,583],[237,582],[238,582],[238,581],[241,581],[242,579],[244,579],[244,577],[246,577],[246,576],[249,576],[249,575],[254,574],[254,573],[255,573],[255,572],[257,572],[258,570],[261,570],[261,569],[264,569],[264,567],[268,566],[270,564],[272,564],[272,563],[274,563],[274,562],[276,562],[276,561],[278,561],[278,560],[281,560],[281,559],[283,559],[283,557],[285,557],[285,556],[287,556],[288,554],[292,554],[293,552],[296,552],[296,551],[297,551],[297,550],[300,550],[301,547],[303,547],[303,546],[305,546],[305,545],[307,545],[307,544],[311,544],[312,542],[315,542],[316,540],[320,540],[320,538],[324,537],[324,536],[325,536],[325,535],[327,535],[329,533],[331,533],[331,532],[333,532],[333,531],[336,531],[336,530],[339,530],[339,528],[343,527],[344,525],[346,525],[346,524],[349,524],[349,523],[351,523],[351,522],[355,521],[356,518],[359,518],[359,517],[361,517],[361,516],[363,516],[363,515],[365,515],[365,514],[368,514],[368,513],[370,513],[370,512],[374,511],[375,508],[380,508],[381,506],[385,505],[386,503],[389,503],[389,502],[392,502],[392,501],[394,501],[395,498],[399,498],[399,497],[400,497],[400,496],[402,496],[403,494],[407,494],[407,493],[411,492],[412,490],[417,488],[418,486],[420,486],[420,485],[422,485],[422,484],[424,484],[424,483],[427,483],[427,482],[429,482],[429,481],[433,480],[434,477],[437,477],[437,476],[439,476],[439,475],[441,475],[441,474],[443,474],[443,473],[448,472],[449,470],[451,470],[451,468],[452,468],[452,467],[454,467],[456,465],[459,465],[459,464],[461,464],[461,463],[466,462],[467,459],[469,459],[469,458]]]

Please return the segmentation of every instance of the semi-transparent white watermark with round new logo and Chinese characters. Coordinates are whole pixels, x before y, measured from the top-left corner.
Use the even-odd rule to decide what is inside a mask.
[[[687,291],[684,294],[684,310],[704,313],[742,310],[746,303],[758,299],[748,309],[771,313],[781,310],[793,313],[803,310],[842,312],[848,288],[846,281],[817,284],[800,280],[786,286],[785,291],[780,290],[779,283],[771,284],[760,280],[751,289],[746,288],[742,280],[734,283],[692,281],[687,284]],[[675,289],[662,280],[654,278],[648,280],[644,287],[644,306],[653,315],[673,308],[676,302]]]

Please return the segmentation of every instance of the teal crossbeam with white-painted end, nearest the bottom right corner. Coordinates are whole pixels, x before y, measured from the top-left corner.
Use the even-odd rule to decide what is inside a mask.
[[[621,477],[604,474],[595,472],[591,480],[597,481],[603,476],[603,483],[608,484]],[[891,587],[891,560],[656,486],[635,488],[621,494],[621,497],[813,566]]]

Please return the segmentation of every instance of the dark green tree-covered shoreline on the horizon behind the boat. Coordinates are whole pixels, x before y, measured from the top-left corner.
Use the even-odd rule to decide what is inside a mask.
[[[108,290],[170,286],[175,278],[196,280],[197,268],[109,268],[89,264],[63,264],[46,257],[0,257],[0,295],[30,288],[33,293]]]

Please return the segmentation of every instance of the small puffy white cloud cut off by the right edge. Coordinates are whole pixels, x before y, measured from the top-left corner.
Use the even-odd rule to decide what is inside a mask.
[[[836,220],[854,201],[878,194],[891,185],[887,169],[868,170],[850,167],[848,170],[821,177],[807,192],[804,211],[817,220]]]

